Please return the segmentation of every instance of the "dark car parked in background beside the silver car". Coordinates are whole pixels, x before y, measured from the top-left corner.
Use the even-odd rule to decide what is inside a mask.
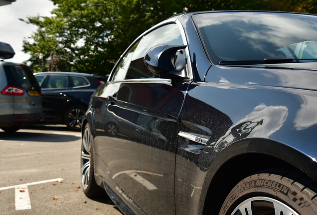
[[[104,83],[103,78],[73,72],[41,72],[34,76],[42,89],[43,122],[80,130],[90,97]]]

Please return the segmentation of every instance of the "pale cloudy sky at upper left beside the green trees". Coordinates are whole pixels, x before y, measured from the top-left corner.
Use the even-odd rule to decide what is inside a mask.
[[[0,6],[0,42],[12,46],[15,55],[5,61],[22,63],[30,58],[22,51],[23,39],[31,36],[37,27],[19,20],[28,16],[51,16],[54,4],[50,0],[16,0]]]

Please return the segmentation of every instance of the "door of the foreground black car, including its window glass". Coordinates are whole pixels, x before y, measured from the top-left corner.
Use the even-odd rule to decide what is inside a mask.
[[[111,124],[117,132],[108,134],[107,154],[99,156],[115,183],[146,214],[175,212],[177,118],[188,84],[160,79],[147,69],[144,56],[155,45],[184,41],[175,23],[149,32],[117,64],[108,95],[101,94],[108,100],[104,130]]]

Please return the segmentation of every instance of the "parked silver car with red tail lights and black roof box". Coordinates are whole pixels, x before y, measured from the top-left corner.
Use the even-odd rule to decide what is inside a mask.
[[[11,46],[0,42],[0,58],[13,56]],[[41,89],[31,69],[0,60],[0,128],[15,132],[26,122],[41,120],[42,112]]]

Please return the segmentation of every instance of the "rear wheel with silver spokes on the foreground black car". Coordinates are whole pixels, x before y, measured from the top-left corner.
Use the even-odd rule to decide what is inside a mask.
[[[95,181],[94,176],[94,153],[92,146],[92,135],[89,124],[84,128],[81,144],[81,183],[84,194],[89,197],[100,197],[104,191]]]

